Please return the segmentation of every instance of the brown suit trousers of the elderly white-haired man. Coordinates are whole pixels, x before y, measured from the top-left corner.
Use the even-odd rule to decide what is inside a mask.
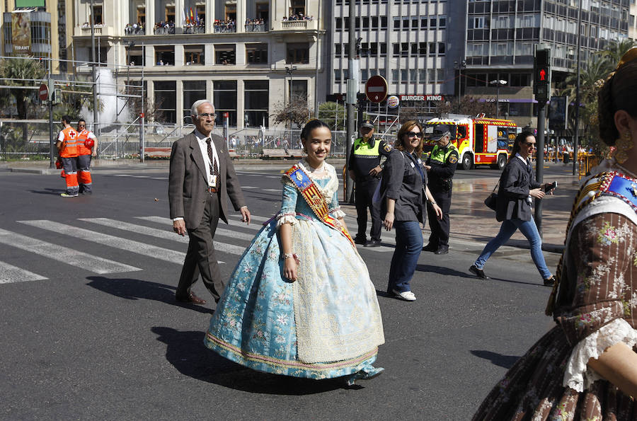
[[[217,231],[217,224],[219,224],[219,196],[213,193],[206,199],[206,207],[199,226],[188,230],[190,240],[177,286],[176,296],[178,298],[188,297],[190,287],[197,282],[200,274],[214,301],[218,302],[219,297],[224,292],[225,284],[219,271],[212,243],[214,231]]]

